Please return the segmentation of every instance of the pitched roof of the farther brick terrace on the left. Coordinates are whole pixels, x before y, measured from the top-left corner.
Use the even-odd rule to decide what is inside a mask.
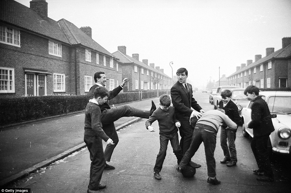
[[[167,74],[165,74],[165,73],[163,73],[163,72],[161,72],[161,71],[159,71],[159,70],[157,70],[157,69],[155,69],[155,68],[152,68],[151,66],[146,65],[145,63],[142,63],[142,62],[140,62],[140,61],[134,59],[133,57],[130,57],[129,55],[123,54],[123,53],[120,52],[119,50],[116,51],[116,52],[113,52],[112,54],[113,54],[115,57],[119,58],[119,59],[120,59],[120,62],[122,62],[122,63],[133,63],[133,64],[135,64],[135,65],[137,65],[137,66],[142,67],[142,68],[145,68],[145,69],[148,69],[148,70],[154,71],[154,72],[159,73],[159,74],[161,74],[161,75],[163,75],[163,76],[166,76],[166,77],[168,77],[168,78],[171,78],[171,77],[169,77]]]

